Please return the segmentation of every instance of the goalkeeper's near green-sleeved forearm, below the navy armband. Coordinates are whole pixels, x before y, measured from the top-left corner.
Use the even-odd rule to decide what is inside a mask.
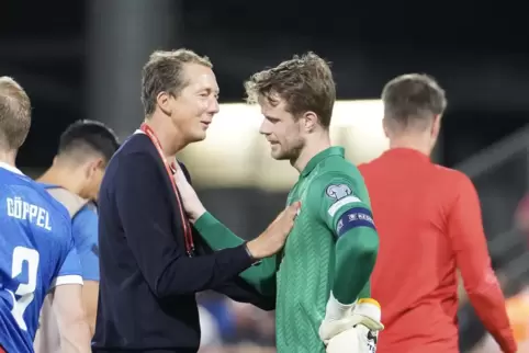
[[[379,252],[379,236],[369,227],[352,228],[336,242],[333,294],[341,304],[370,296],[370,276]]]

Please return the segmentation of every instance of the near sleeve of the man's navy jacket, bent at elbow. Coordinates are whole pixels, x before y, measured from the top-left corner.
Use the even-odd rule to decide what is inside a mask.
[[[182,230],[173,230],[173,197],[162,170],[148,153],[123,156],[116,173],[115,206],[139,270],[157,297],[194,294],[237,276],[251,265],[245,246],[185,255]]]

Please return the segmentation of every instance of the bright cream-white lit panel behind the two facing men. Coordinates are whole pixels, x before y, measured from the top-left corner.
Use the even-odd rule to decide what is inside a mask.
[[[382,130],[380,100],[338,101],[333,113],[334,145],[346,148],[354,163],[378,157],[387,149]],[[289,190],[297,172],[288,161],[270,157],[270,147],[259,135],[262,115],[258,105],[221,104],[204,141],[185,148],[180,156],[201,187],[258,186]]]

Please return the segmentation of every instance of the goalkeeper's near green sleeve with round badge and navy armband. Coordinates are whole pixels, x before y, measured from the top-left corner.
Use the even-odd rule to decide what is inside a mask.
[[[370,277],[379,250],[368,191],[358,173],[327,173],[311,190],[317,217],[336,239],[333,294],[342,304],[371,296]]]

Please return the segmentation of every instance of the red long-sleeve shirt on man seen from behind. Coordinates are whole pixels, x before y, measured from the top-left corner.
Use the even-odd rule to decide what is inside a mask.
[[[516,352],[470,179],[404,148],[359,169],[380,237],[372,296],[385,330],[376,352],[459,352],[457,269],[487,330]]]

